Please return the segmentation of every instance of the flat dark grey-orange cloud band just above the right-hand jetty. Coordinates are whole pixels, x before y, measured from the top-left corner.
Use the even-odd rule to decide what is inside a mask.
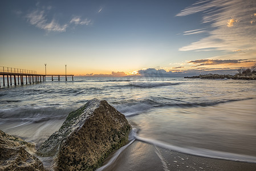
[[[197,64],[193,67],[198,66],[209,66],[209,65],[219,65],[219,64],[241,64],[241,63],[253,63],[256,62],[255,60],[247,60],[247,59],[228,59],[228,60],[222,60],[222,59],[197,59],[197,60],[191,60],[188,63]]]

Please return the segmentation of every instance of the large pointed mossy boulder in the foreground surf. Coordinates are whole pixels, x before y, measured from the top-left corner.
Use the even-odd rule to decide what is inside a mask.
[[[105,100],[92,99],[71,112],[37,154],[55,156],[55,170],[95,170],[109,153],[127,143],[130,131],[122,113]]]

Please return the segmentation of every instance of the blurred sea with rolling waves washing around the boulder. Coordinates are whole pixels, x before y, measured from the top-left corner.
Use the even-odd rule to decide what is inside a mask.
[[[178,152],[256,162],[255,80],[185,78],[47,78],[2,87],[0,129],[43,143],[68,113],[104,99],[133,127],[133,140]]]

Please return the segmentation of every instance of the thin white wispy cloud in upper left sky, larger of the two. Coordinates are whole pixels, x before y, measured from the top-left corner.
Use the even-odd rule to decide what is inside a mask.
[[[55,19],[52,19],[51,22],[47,22],[44,10],[34,10],[31,13],[27,14],[26,18],[28,19],[31,25],[34,25],[35,27],[38,27],[42,30],[46,30],[48,32],[64,32],[68,27],[67,24],[59,25],[59,23],[57,23]]]

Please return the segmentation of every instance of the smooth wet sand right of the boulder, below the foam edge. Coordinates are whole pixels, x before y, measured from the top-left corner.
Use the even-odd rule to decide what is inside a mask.
[[[105,160],[107,164],[111,154]],[[134,141],[103,170],[256,170],[255,163],[197,157]]]

